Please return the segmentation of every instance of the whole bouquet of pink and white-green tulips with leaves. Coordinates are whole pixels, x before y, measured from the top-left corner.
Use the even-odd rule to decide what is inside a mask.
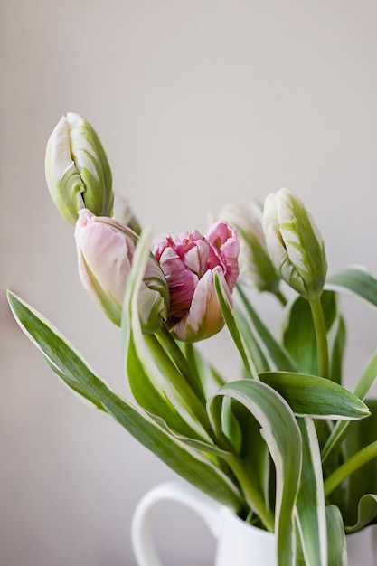
[[[377,353],[345,389],[339,297],[377,307],[377,280],[361,268],[328,277],[316,223],[284,189],[263,208],[225,207],[204,235],[153,238],[114,204],[105,151],[77,114],[52,132],[46,178],[75,225],[80,279],[120,328],[133,400],[9,292],[52,371],[188,482],[276,533],[279,566],[345,564],[345,533],[377,523],[377,401],[366,399]],[[281,304],[279,339],[250,286]],[[240,354],[231,379],[195,344],[223,327]]]

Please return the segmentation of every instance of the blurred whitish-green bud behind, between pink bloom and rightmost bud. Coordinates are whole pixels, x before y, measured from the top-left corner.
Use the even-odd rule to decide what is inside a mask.
[[[221,210],[219,218],[240,232],[240,277],[259,291],[277,291],[280,277],[269,258],[259,205],[251,203],[241,208],[229,204]]]

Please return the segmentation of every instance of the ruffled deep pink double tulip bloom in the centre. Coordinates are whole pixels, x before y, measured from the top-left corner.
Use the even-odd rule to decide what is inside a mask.
[[[224,321],[214,274],[218,273],[231,303],[239,276],[239,250],[238,232],[226,222],[216,222],[205,236],[194,230],[175,241],[171,236],[156,239],[152,251],[170,290],[166,325],[175,337],[196,342],[221,330]]]

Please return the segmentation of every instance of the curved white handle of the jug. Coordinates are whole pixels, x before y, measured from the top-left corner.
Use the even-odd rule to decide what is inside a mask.
[[[190,484],[167,482],[153,487],[137,504],[131,525],[132,547],[138,566],[163,566],[152,533],[151,510],[160,501],[174,501],[196,512],[217,538],[222,505]]]

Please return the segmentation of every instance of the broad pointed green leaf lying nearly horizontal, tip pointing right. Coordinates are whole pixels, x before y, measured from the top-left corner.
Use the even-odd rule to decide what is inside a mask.
[[[323,377],[306,373],[259,373],[286,399],[299,416],[316,419],[363,419],[370,414],[368,407],[353,393]]]

